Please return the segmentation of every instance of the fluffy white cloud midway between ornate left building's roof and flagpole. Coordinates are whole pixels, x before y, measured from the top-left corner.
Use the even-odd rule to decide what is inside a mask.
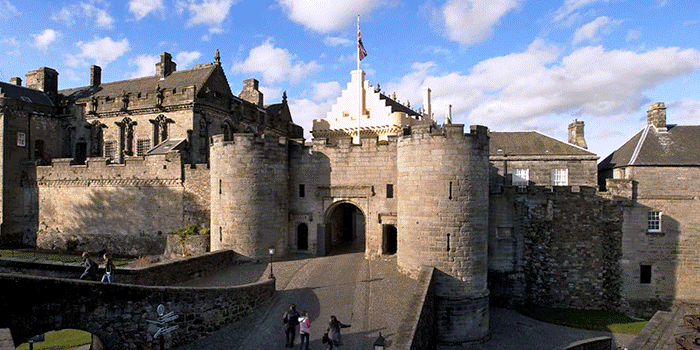
[[[321,66],[315,61],[302,62],[296,55],[275,47],[269,40],[251,49],[245,61],[234,63],[231,68],[236,73],[260,73],[266,82],[289,80],[292,83],[320,69]]]

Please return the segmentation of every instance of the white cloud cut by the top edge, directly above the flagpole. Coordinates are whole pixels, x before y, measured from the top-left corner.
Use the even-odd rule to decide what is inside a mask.
[[[316,32],[328,33],[344,28],[388,0],[277,0],[292,21]]]

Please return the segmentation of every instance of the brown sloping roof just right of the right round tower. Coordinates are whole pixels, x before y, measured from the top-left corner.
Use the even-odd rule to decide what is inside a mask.
[[[596,154],[537,131],[491,132],[490,156],[588,156]]]

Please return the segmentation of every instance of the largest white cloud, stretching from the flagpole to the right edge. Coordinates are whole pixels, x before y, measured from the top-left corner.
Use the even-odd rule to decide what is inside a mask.
[[[418,101],[424,86],[433,91],[433,110],[447,104],[459,122],[490,127],[539,125],[546,116],[567,114],[619,117],[649,103],[644,92],[658,84],[700,70],[700,52],[675,47],[644,52],[601,46],[579,48],[562,56],[542,40],[526,51],[494,57],[469,74],[432,74],[430,63],[416,65],[399,82],[388,84],[398,98]],[[538,119],[540,118],[540,119]]]

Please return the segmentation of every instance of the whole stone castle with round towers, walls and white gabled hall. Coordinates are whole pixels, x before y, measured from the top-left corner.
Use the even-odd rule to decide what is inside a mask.
[[[265,105],[249,79],[234,95],[218,51],[156,68],[102,83],[93,66],[69,90],[46,67],[0,83],[3,245],[162,254],[195,224],[247,259],[396,255],[414,278],[439,271],[446,343],[486,338],[489,302],[648,314],[700,295],[700,127],[666,125],[663,104],[597,165],[581,121],[568,143],[465,133],[449,110],[436,121],[429,89],[415,111],[362,71],[305,142],[286,94]]]

